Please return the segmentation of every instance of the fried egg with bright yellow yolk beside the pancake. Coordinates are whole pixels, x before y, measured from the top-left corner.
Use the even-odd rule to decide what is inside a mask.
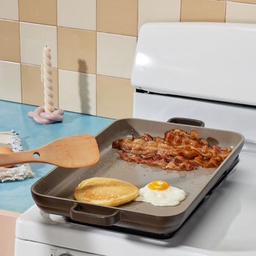
[[[186,196],[184,190],[170,186],[166,181],[156,180],[139,189],[135,201],[151,203],[154,206],[177,206]]]

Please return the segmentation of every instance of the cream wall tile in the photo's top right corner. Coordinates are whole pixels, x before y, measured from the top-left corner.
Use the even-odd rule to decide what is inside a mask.
[[[227,1],[226,22],[256,23],[256,4]]]

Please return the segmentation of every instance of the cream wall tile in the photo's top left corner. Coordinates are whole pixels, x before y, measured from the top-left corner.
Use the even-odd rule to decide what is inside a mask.
[[[19,19],[18,0],[0,0],[0,19]]]

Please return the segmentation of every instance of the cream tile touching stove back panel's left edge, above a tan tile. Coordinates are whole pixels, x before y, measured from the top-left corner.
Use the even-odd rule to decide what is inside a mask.
[[[97,74],[131,78],[137,38],[97,33]]]

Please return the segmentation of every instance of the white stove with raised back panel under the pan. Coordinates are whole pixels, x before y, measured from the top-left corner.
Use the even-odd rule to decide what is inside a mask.
[[[67,222],[33,206],[16,225],[15,256],[256,255],[256,25],[148,23],[132,72],[134,117],[202,120],[245,137],[238,165],[172,238]]]

